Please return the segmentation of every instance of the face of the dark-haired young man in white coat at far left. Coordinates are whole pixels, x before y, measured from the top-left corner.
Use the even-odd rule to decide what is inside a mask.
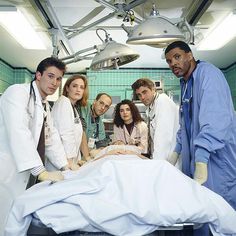
[[[36,84],[43,99],[55,93],[61,84],[62,76],[63,71],[55,66],[48,67],[42,74],[39,71],[36,72]]]

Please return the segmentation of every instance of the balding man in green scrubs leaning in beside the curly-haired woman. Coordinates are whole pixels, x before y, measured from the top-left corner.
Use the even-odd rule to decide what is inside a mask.
[[[102,115],[110,108],[112,98],[106,93],[99,93],[92,104],[81,108],[82,117],[86,122],[86,135],[90,149],[107,146]]]

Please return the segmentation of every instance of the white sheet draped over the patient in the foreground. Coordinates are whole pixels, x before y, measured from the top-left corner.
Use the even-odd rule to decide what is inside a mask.
[[[213,235],[236,234],[230,205],[168,162],[133,153],[101,156],[65,172],[62,182],[28,189],[13,205],[5,236],[26,235],[33,215],[57,233],[138,236],[159,226],[209,222]]]

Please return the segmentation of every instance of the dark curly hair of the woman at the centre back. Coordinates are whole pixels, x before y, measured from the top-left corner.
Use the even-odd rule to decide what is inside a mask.
[[[117,127],[123,127],[123,125],[124,125],[124,120],[122,120],[122,118],[120,116],[120,107],[121,107],[121,105],[126,105],[126,104],[130,108],[133,122],[136,124],[138,122],[143,121],[143,118],[141,117],[140,112],[139,112],[138,108],[136,107],[136,105],[132,101],[125,99],[125,100],[121,101],[120,103],[118,103],[114,109],[114,124]]]

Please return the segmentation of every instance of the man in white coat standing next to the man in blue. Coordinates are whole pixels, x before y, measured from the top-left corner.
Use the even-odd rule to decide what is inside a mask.
[[[178,107],[165,94],[158,93],[154,83],[138,79],[132,84],[134,93],[147,106],[149,129],[149,154],[153,159],[168,159],[176,143],[178,130]]]

